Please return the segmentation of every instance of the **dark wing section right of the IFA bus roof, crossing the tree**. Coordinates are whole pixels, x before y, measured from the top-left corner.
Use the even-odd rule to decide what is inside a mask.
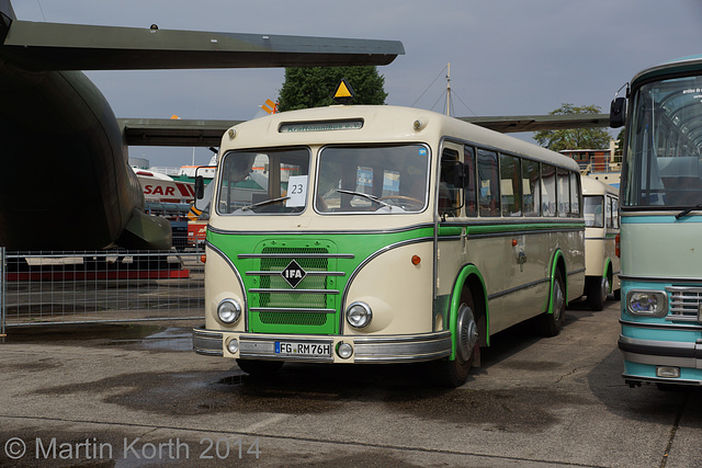
[[[457,117],[501,134],[609,127],[609,114],[522,115],[505,117]]]

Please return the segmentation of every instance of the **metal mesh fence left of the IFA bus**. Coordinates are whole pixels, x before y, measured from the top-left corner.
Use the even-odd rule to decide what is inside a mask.
[[[14,326],[202,319],[202,253],[0,248],[0,338]]]

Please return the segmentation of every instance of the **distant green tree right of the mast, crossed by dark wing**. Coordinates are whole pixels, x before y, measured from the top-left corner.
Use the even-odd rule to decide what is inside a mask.
[[[575,106],[564,103],[548,115],[600,114],[597,105]],[[569,128],[564,130],[543,130],[534,134],[539,145],[553,151],[564,149],[604,149],[609,148],[611,136],[604,128]]]

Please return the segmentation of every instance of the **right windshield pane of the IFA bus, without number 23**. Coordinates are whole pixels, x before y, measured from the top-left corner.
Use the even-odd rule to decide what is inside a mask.
[[[329,146],[319,152],[318,174],[319,213],[419,213],[427,207],[429,149]]]

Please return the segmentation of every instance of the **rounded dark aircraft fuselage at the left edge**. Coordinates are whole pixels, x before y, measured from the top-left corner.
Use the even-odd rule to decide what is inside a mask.
[[[0,246],[86,250],[115,242],[144,195],[102,93],[80,71],[30,72],[8,62],[0,89]],[[151,247],[159,246],[167,247]]]

